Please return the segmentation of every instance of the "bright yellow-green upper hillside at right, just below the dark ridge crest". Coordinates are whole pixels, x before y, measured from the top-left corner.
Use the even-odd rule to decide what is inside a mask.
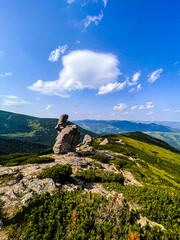
[[[180,154],[175,149],[174,152],[173,148],[171,151],[164,149],[160,147],[163,146],[163,141],[143,133],[112,134],[106,137],[109,139],[109,144],[99,146],[97,138],[94,147],[137,158],[140,167],[134,165],[130,170],[139,181],[180,189]],[[118,139],[122,139],[125,145],[117,143]],[[168,145],[164,142],[164,146],[167,148]]]

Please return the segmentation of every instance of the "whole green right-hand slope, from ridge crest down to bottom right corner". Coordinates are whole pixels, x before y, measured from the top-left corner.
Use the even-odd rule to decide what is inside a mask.
[[[166,232],[171,235],[163,239],[179,239],[180,154],[176,150],[172,152],[164,149],[162,141],[150,138],[143,133],[107,135],[106,137],[109,144],[99,146],[102,139],[97,138],[94,147],[136,158],[135,162],[129,163],[125,157],[115,156],[116,159],[113,162],[118,167],[119,163],[124,164],[127,161],[127,164],[119,169],[129,170],[143,186],[122,186],[111,182],[103,184],[104,187],[123,193],[132,206],[138,206],[143,216],[162,224]],[[117,143],[119,139],[122,139],[125,145]],[[167,147],[166,143],[164,146]]]

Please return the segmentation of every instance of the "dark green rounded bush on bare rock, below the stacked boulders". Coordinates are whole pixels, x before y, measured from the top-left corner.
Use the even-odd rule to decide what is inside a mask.
[[[52,178],[55,182],[62,183],[70,179],[72,168],[70,165],[55,165],[51,168],[46,168],[40,173],[37,178]]]

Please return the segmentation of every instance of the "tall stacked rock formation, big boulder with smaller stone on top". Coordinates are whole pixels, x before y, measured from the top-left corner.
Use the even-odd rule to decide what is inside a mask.
[[[55,129],[58,130],[56,143],[54,144],[53,151],[55,154],[74,152],[75,147],[80,140],[80,132],[77,125],[68,125],[68,115],[64,114],[59,118]]]

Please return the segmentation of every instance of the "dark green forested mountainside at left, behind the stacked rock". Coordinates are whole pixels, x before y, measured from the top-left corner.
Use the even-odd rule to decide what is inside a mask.
[[[20,152],[23,152],[22,149],[25,149],[25,152],[32,152],[26,151],[26,149],[33,149],[33,146],[35,152],[37,152],[37,149],[42,151],[44,148],[52,148],[57,136],[57,131],[54,128],[57,121],[58,119],[55,118],[37,118],[22,114],[15,114],[12,112],[0,111],[0,137],[6,138],[1,139],[1,141],[3,141],[3,144],[0,147],[1,151],[7,152],[7,149],[3,150],[3,148],[5,146],[5,141],[8,146],[10,146],[8,143],[9,138],[23,141]],[[81,132],[81,138],[83,138],[85,134],[89,134],[93,137],[96,136],[95,133],[82,129],[81,127],[79,127],[79,131]],[[31,144],[30,147],[30,144],[27,142],[37,143],[40,145],[35,146],[35,144]],[[18,149],[19,143],[20,142],[13,141],[12,148]],[[12,149],[10,149],[9,153],[14,152],[11,150]]]

